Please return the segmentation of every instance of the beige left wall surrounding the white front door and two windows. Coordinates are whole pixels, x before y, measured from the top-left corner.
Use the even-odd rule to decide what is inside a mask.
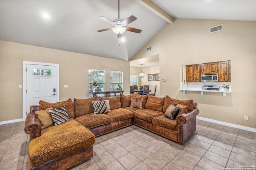
[[[90,68],[106,70],[106,90],[110,90],[110,70],[123,71],[124,94],[130,94],[128,61],[0,41],[0,122],[22,119],[22,89],[18,85],[22,85],[23,61],[59,64],[60,101],[88,98]]]

